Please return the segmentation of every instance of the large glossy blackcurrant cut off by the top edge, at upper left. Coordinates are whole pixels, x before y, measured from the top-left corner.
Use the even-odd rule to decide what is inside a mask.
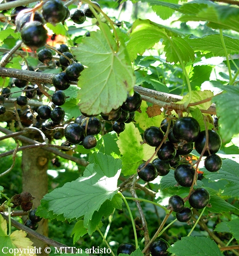
[[[54,25],[63,21],[66,14],[66,9],[59,0],[47,1],[42,6],[42,15],[44,16],[44,19]]]

